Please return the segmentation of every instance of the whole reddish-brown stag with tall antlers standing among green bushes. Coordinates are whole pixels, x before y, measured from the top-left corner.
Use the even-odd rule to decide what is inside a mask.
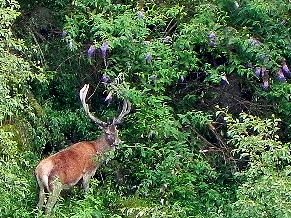
[[[102,128],[101,136],[95,141],[82,141],[73,144],[41,160],[35,169],[36,180],[40,189],[37,209],[41,211],[45,207],[45,214],[49,215],[55,205],[61,190],[70,189],[82,178],[85,192],[89,191],[89,180],[102,164],[102,155],[114,151],[121,140],[118,137],[117,125],[123,122],[123,118],[130,112],[131,105],[128,99],[123,101],[123,109],[112,123],[103,122],[94,117],[86,103],[86,95],[89,84],[85,84],[80,90],[80,99],[88,117]],[[48,200],[44,206],[45,193]]]

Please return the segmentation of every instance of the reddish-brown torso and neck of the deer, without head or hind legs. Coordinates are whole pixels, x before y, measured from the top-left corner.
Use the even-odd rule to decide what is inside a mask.
[[[55,179],[59,180],[63,189],[69,189],[83,178],[86,189],[87,184],[84,184],[86,181],[84,178],[88,174],[95,173],[99,167],[99,163],[94,160],[96,156],[113,149],[114,146],[107,142],[104,135],[95,141],[73,144],[42,160],[35,170],[37,180],[42,183],[47,192],[50,192],[53,189],[50,186]]]

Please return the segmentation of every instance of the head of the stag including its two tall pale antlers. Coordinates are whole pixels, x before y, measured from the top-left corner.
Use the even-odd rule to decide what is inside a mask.
[[[120,115],[117,118],[114,118],[112,123],[103,122],[100,119],[94,117],[90,111],[88,104],[86,104],[86,95],[88,93],[89,84],[84,85],[84,87],[80,90],[80,99],[83,104],[83,108],[85,109],[86,114],[90,119],[92,119],[98,126],[100,126],[103,130],[105,139],[111,145],[118,145],[121,141],[118,137],[118,130],[116,128],[117,125],[121,124],[123,121],[123,117],[130,112],[130,102],[125,99],[123,101],[123,108]]]

